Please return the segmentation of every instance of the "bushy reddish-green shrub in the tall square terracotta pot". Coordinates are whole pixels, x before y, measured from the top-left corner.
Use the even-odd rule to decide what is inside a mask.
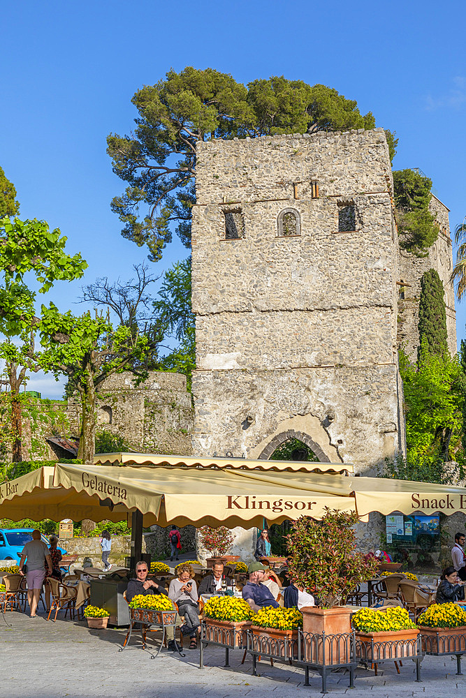
[[[287,536],[289,576],[298,587],[314,595],[315,607],[302,609],[304,632],[351,632],[351,609],[344,604],[358,584],[377,570],[375,558],[356,552],[356,513],[327,508],[321,521],[301,517]]]

